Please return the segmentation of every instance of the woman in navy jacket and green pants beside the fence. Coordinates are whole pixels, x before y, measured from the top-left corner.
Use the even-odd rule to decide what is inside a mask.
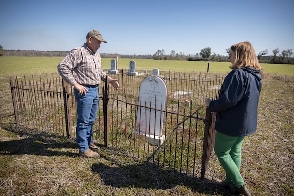
[[[205,99],[216,112],[215,153],[226,172],[225,183],[233,183],[240,194],[251,196],[239,172],[244,137],[257,127],[257,107],[261,90],[261,66],[249,42],[231,46],[232,71],[225,77],[218,100]]]

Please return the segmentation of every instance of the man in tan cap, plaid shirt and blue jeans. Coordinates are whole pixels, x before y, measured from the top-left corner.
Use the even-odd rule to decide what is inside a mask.
[[[101,68],[101,56],[97,52],[102,42],[107,43],[97,30],[89,31],[86,43],[73,49],[58,65],[62,78],[74,86],[77,107],[76,141],[80,156],[98,157],[99,147],[93,143],[93,124],[96,119],[99,92],[98,86],[106,81]],[[115,89],[119,88],[117,79],[108,77]]]

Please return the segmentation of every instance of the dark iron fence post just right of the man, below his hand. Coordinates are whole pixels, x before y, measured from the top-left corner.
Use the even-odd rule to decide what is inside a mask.
[[[108,147],[109,141],[109,126],[108,126],[108,94],[109,94],[109,82],[108,76],[106,76],[105,87],[103,86],[103,120],[104,120],[104,145]]]

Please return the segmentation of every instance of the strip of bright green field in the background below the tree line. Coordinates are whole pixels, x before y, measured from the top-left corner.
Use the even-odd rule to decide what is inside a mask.
[[[57,65],[62,57],[21,57],[3,56],[0,57],[1,75],[25,75],[35,73],[57,73]],[[110,58],[102,59],[102,69],[110,69]],[[208,62],[204,61],[164,61],[153,59],[119,59],[119,69],[129,69],[129,62],[136,61],[137,70],[159,70],[174,72],[207,72]],[[209,62],[210,73],[228,73],[230,71],[229,62]],[[264,64],[261,66],[265,73],[285,74],[294,76],[294,65],[288,64]]]

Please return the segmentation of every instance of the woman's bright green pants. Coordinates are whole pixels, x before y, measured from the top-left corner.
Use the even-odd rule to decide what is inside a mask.
[[[232,137],[217,131],[214,151],[226,172],[225,182],[232,182],[236,187],[244,185],[239,172],[241,166],[241,148],[244,136]]]

